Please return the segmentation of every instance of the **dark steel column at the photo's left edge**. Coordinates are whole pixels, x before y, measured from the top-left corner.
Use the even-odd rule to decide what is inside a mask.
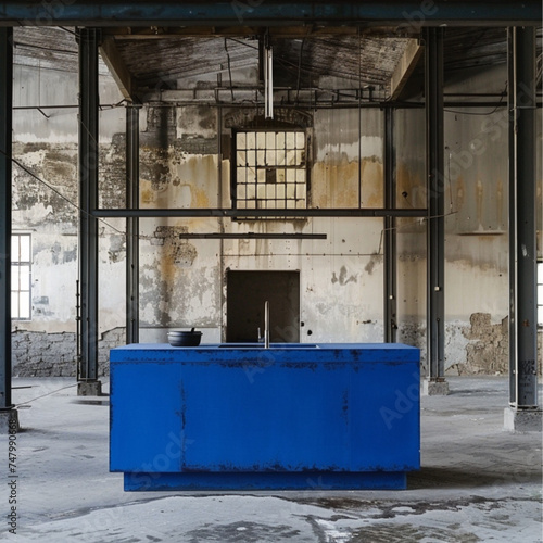
[[[13,29],[0,28],[0,409],[11,404],[11,157]]]

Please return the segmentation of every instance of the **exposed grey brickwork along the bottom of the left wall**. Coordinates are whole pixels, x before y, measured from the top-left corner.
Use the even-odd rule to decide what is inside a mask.
[[[76,334],[17,330],[12,332],[14,377],[76,377]],[[125,343],[125,329],[102,333],[98,346],[98,376],[110,375],[110,349]]]

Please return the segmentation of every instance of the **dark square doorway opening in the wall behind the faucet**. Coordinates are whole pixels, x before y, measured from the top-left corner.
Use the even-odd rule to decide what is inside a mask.
[[[255,342],[264,336],[264,303],[269,302],[269,340],[300,342],[299,272],[228,272],[226,341]]]

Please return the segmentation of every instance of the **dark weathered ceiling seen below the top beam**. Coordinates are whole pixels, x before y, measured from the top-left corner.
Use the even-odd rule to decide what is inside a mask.
[[[190,33],[190,34],[189,34]],[[258,70],[258,29],[108,28],[103,39],[112,61],[129,74],[131,93],[144,98],[156,89],[187,89],[191,85],[241,85],[241,71]],[[387,100],[391,78],[417,40],[394,28],[354,27],[313,30],[281,28],[269,36],[274,47],[274,84],[283,88],[372,87]],[[416,43],[416,42],[415,42]],[[18,27],[14,29],[15,62],[77,72],[74,28]],[[541,81],[542,30],[538,29]],[[504,64],[505,28],[447,28],[445,73]],[[420,60],[418,60],[420,63]],[[414,66],[416,67],[416,66]],[[416,73],[416,72],[415,72]],[[220,74],[220,75],[218,75]],[[200,81],[200,83],[198,83]]]

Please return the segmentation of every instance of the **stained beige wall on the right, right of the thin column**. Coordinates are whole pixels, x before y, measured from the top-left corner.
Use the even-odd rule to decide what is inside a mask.
[[[445,92],[500,94],[506,80],[505,66],[453,74]],[[542,257],[542,124],[538,112],[538,252]],[[445,108],[445,366],[450,372],[503,372],[507,367],[507,333],[502,332],[508,315],[507,123],[506,108]],[[424,134],[424,111],[397,112],[397,201],[402,207],[426,202]],[[426,227],[402,219],[397,233],[400,338],[424,349]]]

